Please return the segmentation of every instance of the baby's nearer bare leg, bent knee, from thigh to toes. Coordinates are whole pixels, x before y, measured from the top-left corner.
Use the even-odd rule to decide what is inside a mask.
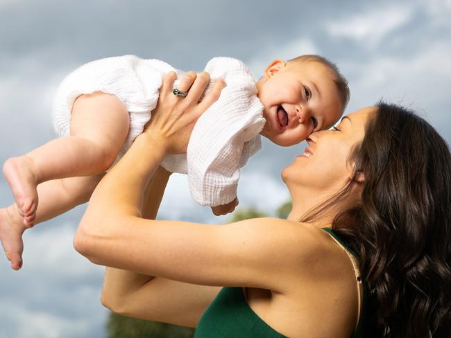
[[[3,174],[24,217],[34,218],[36,186],[64,177],[96,175],[110,168],[128,134],[129,116],[117,97],[79,96],[71,113],[71,136],[55,139],[3,165]]]

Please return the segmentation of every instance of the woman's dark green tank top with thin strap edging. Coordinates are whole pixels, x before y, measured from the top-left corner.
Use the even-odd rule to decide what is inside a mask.
[[[323,228],[323,230],[333,235],[334,238],[337,238],[350,253],[359,258],[337,237],[332,229]],[[258,317],[248,305],[243,291],[242,287],[223,287],[199,320],[196,331],[194,332],[194,338],[287,338]],[[364,296],[357,329],[351,335],[351,338],[364,337],[363,318],[365,298]]]

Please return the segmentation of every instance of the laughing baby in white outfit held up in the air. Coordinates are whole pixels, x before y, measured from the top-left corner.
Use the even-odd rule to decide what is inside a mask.
[[[60,138],[3,165],[15,204],[0,209],[0,240],[13,269],[22,267],[24,231],[87,202],[103,173],[130,148],[169,71],[182,75],[160,60],[125,55],[84,64],[62,81],[53,103]],[[260,149],[260,134],[278,145],[298,144],[334,125],[349,100],[346,80],[318,55],[275,60],[257,82],[230,57],[214,57],[205,71],[212,83],[222,78],[227,87],[198,118],[187,154],[169,156],[162,166],[187,174],[192,197],[215,215],[237,205],[239,168]],[[105,94],[125,109],[107,109]],[[83,109],[87,102],[99,109]]]

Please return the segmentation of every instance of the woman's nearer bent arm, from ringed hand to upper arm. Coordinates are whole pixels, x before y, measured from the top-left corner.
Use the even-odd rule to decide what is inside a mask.
[[[164,79],[146,131],[94,191],[76,233],[76,249],[99,265],[198,285],[285,292],[293,280],[312,281],[318,276],[306,274],[303,263],[321,271],[313,266],[314,257],[325,249],[318,240],[323,231],[314,226],[275,218],[222,226],[142,218],[143,193],[153,173],[167,154],[186,151],[196,118],[219,96],[216,81],[198,103],[210,81],[201,74],[186,98],[173,96],[173,78]]]

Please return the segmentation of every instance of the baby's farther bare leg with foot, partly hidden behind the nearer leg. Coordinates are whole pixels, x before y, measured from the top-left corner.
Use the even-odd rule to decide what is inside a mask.
[[[50,220],[89,201],[103,175],[102,173],[96,176],[54,179],[37,186],[37,195],[41,203],[37,207],[34,224]],[[24,217],[17,213],[15,204],[8,208],[0,208],[0,241],[6,258],[10,260],[11,267],[15,270],[22,267],[22,251],[24,251],[22,234],[29,227],[25,222]]]

